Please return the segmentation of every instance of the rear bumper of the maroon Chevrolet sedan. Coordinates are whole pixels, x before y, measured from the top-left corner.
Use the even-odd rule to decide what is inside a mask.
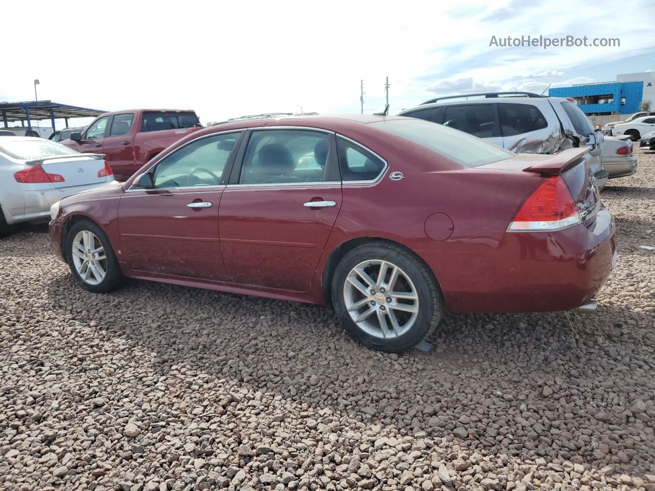
[[[602,208],[590,227],[508,232],[493,252],[453,260],[460,267],[450,277],[434,264],[451,312],[570,310],[591,300],[614,266],[614,219]]]

